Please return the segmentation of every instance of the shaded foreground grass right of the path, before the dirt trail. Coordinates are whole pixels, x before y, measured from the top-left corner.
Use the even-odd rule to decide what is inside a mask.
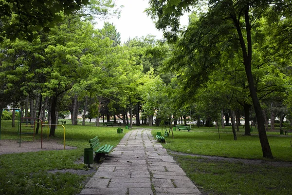
[[[247,165],[174,155],[187,176],[208,195],[288,195],[291,167]]]

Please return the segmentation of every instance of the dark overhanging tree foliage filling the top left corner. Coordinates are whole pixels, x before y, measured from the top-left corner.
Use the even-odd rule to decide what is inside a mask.
[[[79,10],[89,0],[2,0],[0,2],[0,41],[7,39],[37,38],[37,31],[48,32],[62,18],[63,11],[67,15]]]

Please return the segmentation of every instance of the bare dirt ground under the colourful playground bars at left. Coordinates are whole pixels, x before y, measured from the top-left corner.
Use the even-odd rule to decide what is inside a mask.
[[[66,150],[76,149],[75,147],[65,146]],[[42,148],[41,141],[21,141],[20,147],[17,140],[0,140],[0,155],[23,152],[37,152],[42,150],[64,150],[64,144],[56,140],[43,139]]]

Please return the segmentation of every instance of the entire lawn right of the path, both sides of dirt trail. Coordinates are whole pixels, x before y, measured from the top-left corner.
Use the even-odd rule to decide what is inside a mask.
[[[162,132],[152,130],[152,135]],[[200,127],[191,132],[174,131],[166,138],[164,148],[185,154],[223,156],[231,158],[269,160],[262,157],[259,138],[243,136],[244,130],[237,132],[233,139],[230,127],[218,129]],[[274,155],[272,161],[292,162],[291,137],[273,136],[267,132]],[[185,173],[208,195],[288,195],[292,194],[292,167],[274,167],[262,163],[244,164],[227,160],[204,157],[173,155]],[[271,161],[271,160],[269,160]]]

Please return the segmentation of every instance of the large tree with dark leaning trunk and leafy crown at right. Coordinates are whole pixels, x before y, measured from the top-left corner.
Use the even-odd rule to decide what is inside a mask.
[[[151,7],[147,9],[147,13],[158,20],[156,27],[164,30],[164,37],[174,42],[178,39],[177,33],[180,32],[179,16],[183,14],[183,11],[189,11],[189,7],[197,5],[198,2],[198,0],[150,0]],[[285,17],[284,11],[292,5],[290,1],[282,0],[209,0],[208,4],[208,11],[201,14],[198,20],[191,21],[183,33],[178,46],[182,51],[178,52],[179,57],[173,63],[183,67],[188,64],[195,65],[197,69],[192,71],[188,84],[196,88],[200,82],[194,82],[194,78],[205,82],[209,79],[210,73],[214,72],[218,65],[222,65],[219,63],[222,50],[229,50],[231,53],[240,52],[258,122],[258,135],[263,156],[273,158],[252,74],[252,48],[256,42],[256,28],[260,25],[258,19],[273,8],[277,12],[282,11],[281,16]],[[168,29],[171,32],[167,31]]]

